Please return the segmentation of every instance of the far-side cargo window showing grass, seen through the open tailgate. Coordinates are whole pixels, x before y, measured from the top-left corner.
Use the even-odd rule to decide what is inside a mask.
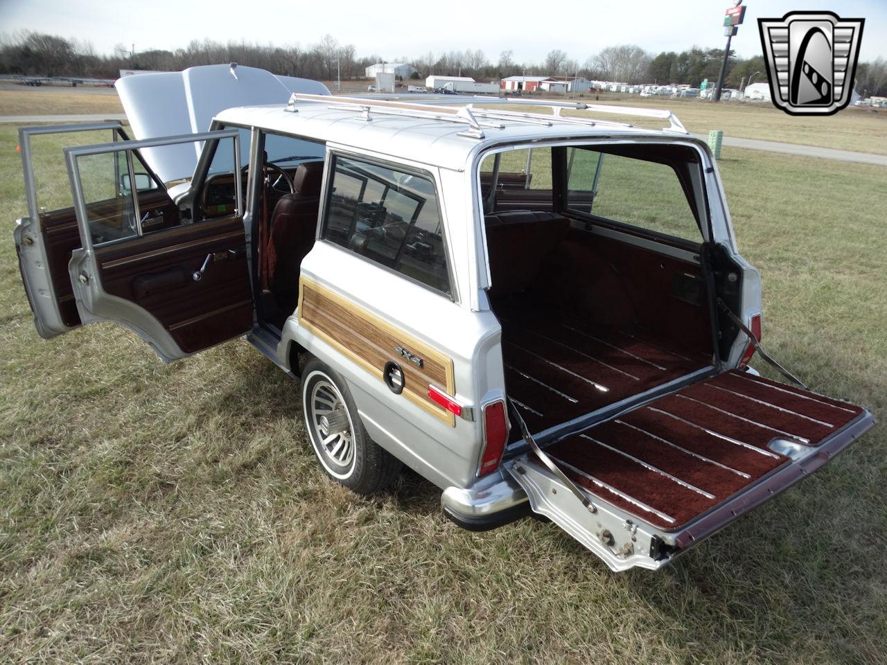
[[[585,148],[570,149],[567,160],[569,207],[702,242],[678,174],[667,164]]]

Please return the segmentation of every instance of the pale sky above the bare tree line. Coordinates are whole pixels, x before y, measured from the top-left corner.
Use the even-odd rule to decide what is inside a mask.
[[[428,51],[481,49],[495,62],[539,62],[552,49],[580,64],[601,49],[636,43],[647,51],[723,47],[721,21],[732,0],[508,0],[479,3],[371,3],[339,0],[0,0],[0,35],[21,29],[75,37],[98,52],[122,43],[136,51],[175,49],[192,39],[219,42],[317,43],[333,35],[357,56],[393,60]],[[866,19],[860,60],[887,58],[887,0],[749,0],[733,48],[761,54],[758,18],[828,10]],[[506,12],[503,8],[506,7]]]

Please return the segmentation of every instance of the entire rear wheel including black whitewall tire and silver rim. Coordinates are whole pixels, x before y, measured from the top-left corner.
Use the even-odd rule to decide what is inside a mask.
[[[334,481],[370,496],[400,473],[400,460],[366,433],[344,379],[317,358],[302,371],[302,411],[311,448]]]

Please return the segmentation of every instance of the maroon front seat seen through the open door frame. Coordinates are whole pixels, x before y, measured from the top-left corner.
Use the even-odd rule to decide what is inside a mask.
[[[299,267],[314,246],[324,162],[306,161],[295,169],[294,192],[274,206],[267,249],[268,286],[285,317],[299,294]]]

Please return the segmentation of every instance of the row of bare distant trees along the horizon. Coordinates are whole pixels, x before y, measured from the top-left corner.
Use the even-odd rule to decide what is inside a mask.
[[[111,53],[98,53],[90,43],[58,35],[21,32],[0,42],[0,73],[39,76],[83,76],[116,78],[120,69],[175,71],[189,66],[237,62],[268,69],[277,74],[324,81],[341,75],[343,81],[364,77],[365,68],[377,62],[405,62],[416,67],[413,77],[428,74],[472,76],[477,81],[494,81],[511,75],[585,76],[591,80],[624,83],[678,83],[698,86],[703,79],[718,80],[724,51],[694,46],[686,51],[653,54],[634,44],[608,46],[585,61],[553,49],[542,61],[520,62],[514,51],[502,51],[491,61],[480,50],[428,51],[418,58],[403,56],[383,59],[379,55],[358,56],[353,44],[341,44],[325,35],[318,43],[301,46],[194,40],[174,51],[130,51],[118,44]],[[731,51],[727,61],[726,86],[738,88],[754,77],[765,82],[764,59],[738,58]],[[887,60],[860,63],[856,89],[867,95],[887,95]]]

